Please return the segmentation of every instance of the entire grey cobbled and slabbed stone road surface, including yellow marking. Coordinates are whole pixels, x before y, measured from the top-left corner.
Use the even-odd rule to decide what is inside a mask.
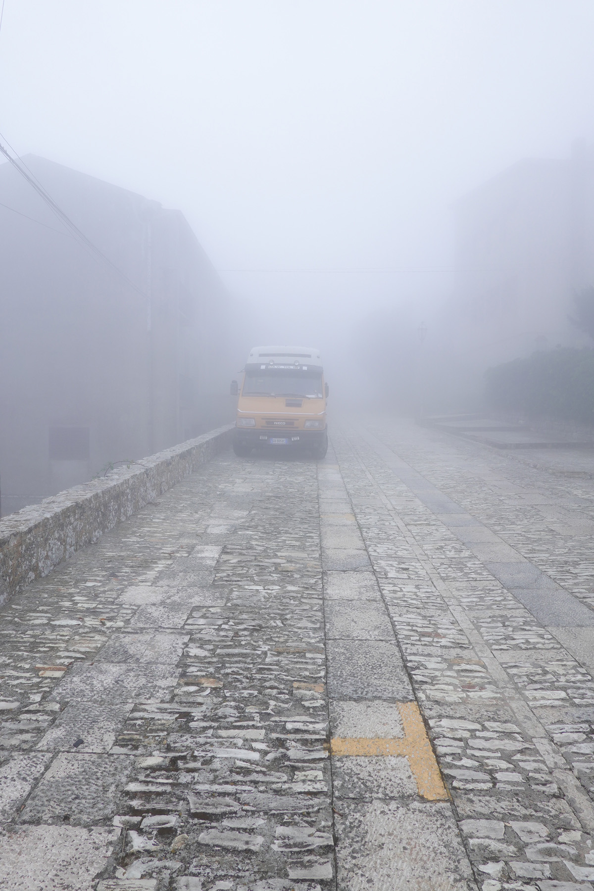
[[[0,888],[594,888],[590,473],[332,433],[0,609]]]

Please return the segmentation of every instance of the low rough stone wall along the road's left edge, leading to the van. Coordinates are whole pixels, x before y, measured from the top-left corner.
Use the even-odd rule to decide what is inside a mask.
[[[232,429],[188,439],[0,520],[0,603],[231,446]]]

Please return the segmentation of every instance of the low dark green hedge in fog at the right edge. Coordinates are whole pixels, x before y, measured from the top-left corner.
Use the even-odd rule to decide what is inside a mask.
[[[594,349],[533,353],[489,368],[484,377],[495,408],[594,424]]]

